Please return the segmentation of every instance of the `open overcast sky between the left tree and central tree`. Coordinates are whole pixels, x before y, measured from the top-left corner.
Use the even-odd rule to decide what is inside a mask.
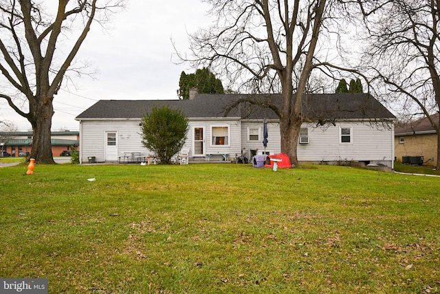
[[[126,10],[113,15],[111,29],[92,26],[77,59],[89,61],[98,74],[74,78],[76,87],[58,92],[52,131],[78,131],[74,118],[101,99],[176,99],[181,71],[195,69],[173,62],[171,39],[180,52],[188,52],[188,32],[210,24],[208,8],[200,0],[130,0]],[[32,129],[3,102],[0,118],[20,131]]]

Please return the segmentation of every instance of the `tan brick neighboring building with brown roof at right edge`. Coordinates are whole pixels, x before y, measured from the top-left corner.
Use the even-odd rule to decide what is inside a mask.
[[[431,116],[439,125],[439,114]],[[395,127],[395,156],[400,162],[408,156],[423,156],[423,164],[437,166],[437,132],[428,118]]]

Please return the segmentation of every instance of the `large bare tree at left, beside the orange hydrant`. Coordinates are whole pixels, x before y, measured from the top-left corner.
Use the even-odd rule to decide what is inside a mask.
[[[36,162],[54,163],[54,96],[91,23],[121,5],[120,0],[0,1],[0,98],[32,125]]]

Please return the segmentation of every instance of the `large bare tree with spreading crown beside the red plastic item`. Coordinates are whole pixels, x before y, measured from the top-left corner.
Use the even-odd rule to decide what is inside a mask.
[[[281,151],[298,164],[297,145],[303,98],[312,70],[330,66],[320,60],[320,38],[325,30],[338,31],[336,19],[344,18],[338,0],[223,0],[210,3],[218,15],[211,28],[190,36],[194,67],[206,65],[239,92],[281,92],[282,106],[266,105],[280,118]],[[338,11],[336,11],[338,10]],[[337,13],[335,13],[337,12]],[[325,41],[329,41],[328,39]],[[328,44],[325,48],[329,48]],[[327,51],[326,51],[327,53]],[[188,60],[188,59],[186,59]],[[248,101],[270,104],[270,101]]]

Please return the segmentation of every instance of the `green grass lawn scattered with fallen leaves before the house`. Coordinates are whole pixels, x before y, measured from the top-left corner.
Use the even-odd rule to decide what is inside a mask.
[[[440,178],[325,165],[26,170],[0,168],[0,277],[45,277],[49,293],[440,293]]]

